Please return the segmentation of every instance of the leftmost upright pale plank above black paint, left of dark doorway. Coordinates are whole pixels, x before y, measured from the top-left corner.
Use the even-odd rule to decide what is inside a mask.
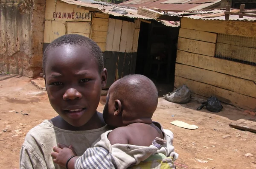
[[[116,20],[109,18],[108,33],[106,39],[106,51],[112,51]]]

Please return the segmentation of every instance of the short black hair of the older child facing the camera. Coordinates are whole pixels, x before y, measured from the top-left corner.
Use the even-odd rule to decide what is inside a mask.
[[[94,42],[92,39],[88,37],[84,37],[79,34],[67,34],[67,35],[58,37],[57,39],[52,41],[45,49],[44,55],[43,55],[43,72],[44,73],[45,73],[45,65],[46,65],[48,51],[50,51],[52,48],[56,48],[58,46],[66,45],[66,44],[80,45],[80,46],[89,48],[93,56],[95,57],[96,63],[98,64],[99,72],[103,70],[104,62],[103,62],[102,51],[97,45],[97,43]]]

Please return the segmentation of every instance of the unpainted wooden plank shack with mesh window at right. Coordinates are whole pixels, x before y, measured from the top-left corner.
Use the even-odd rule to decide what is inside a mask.
[[[197,96],[256,111],[256,17],[224,15],[181,18],[175,87],[186,84]]]

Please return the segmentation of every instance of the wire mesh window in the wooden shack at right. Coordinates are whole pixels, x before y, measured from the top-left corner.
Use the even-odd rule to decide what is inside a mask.
[[[215,57],[256,66],[256,38],[218,34]]]

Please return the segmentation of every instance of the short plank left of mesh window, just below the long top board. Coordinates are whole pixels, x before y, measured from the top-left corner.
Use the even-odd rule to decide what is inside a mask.
[[[217,34],[180,28],[179,37],[216,43]]]

